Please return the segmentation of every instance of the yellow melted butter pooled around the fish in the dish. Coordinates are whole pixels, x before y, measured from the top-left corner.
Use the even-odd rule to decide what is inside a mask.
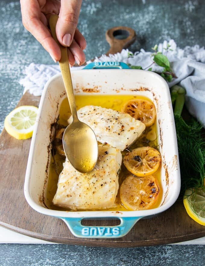
[[[77,110],[85,105],[96,105],[101,106],[104,108],[109,108],[117,111],[121,111],[123,105],[128,102],[131,99],[147,99],[149,98],[145,96],[133,96],[133,95],[77,95],[75,96],[76,101],[76,107]],[[62,101],[62,104],[60,106],[59,110],[59,124],[67,126],[68,125],[68,118],[71,116],[70,107],[68,104],[68,99],[65,98]],[[156,136],[154,138],[153,136]],[[140,136],[140,138],[137,139],[132,145],[131,148],[137,148],[137,147],[143,147],[143,146],[150,146],[153,148],[158,149],[158,143],[157,143],[157,130],[156,130],[156,121],[155,124],[147,127],[144,131],[144,133]],[[127,151],[122,152],[122,157],[127,153]],[[46,206],[49,209],[54,210],[69,210],[62,207],[55,206],[52,203],[52,199],[56,193],[57,190],[57,184],[58,184],[58,177],[60,172],[63,169],[63,163],[65,161],[65,157],[59,154],[55,154],[55,158],[51,158],[51,164],[50,164],[50,170],[49,170],[49,179],[48,179],[48,185],[47,185],[47,191],[46,191]],[[153,176],[156,178],[158,186],[159,186],[159,196],[157,197],[156,203],[152,208],[159,207],[159,204],[162,200],[162,184],[161,184],[161,176],[160,176],[160,168],[156,171],[156,173],[153,174]],[[56,173],[56,169],[57,172]],[[119,189],[118,194],[116,196],[116,204],[115,207],[109,208],[106,210],[109,211],[128,211],[120,202],[120,196],[119,196],[119,190],[120,185],[125,180],[125,178],[130,173],[128,170],[124,167],[123,163],[121,166],[121,170],[119,173]],[[103,210],[103,209],[101,209]]]

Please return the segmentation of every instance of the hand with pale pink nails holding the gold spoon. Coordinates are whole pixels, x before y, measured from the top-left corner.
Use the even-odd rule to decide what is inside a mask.
[[[51,14],[59,16],[56,35],[60,44],[69,47],[67,50],[70,65],[74,65],[75,61],[78,65],[85,62],[83,50],[86,41],[76,28],[81,3],[81,0],[20,0],[24,27],[42,44],[55,62],[60,60],[61,51],[48,28]]]

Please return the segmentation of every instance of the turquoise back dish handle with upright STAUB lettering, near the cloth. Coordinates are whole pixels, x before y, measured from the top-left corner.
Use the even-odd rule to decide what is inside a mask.
[[[83,69],[130,69],[130,67],[123,62],[92,62],[86,65]]]

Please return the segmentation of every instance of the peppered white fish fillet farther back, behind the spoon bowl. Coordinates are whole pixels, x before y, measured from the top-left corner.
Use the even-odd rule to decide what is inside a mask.
[[[145,130],[144,123],[112,109],[86,105],[77,111],[80,121],[89,125],[97,141],[108,143],[121,151],[131,145]],[[72,117],[68,123],[72,122]]]

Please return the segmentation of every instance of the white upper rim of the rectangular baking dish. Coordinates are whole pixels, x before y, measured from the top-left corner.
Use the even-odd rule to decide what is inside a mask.
[[[80,70],[73,70],[73,71],[80,71]],[[83,70],[83,71],[91,71],[91,70]],[[93,70],[96,71],[96,70]],[[100,71],[106,71],[105,69],[102,69]],[[112,70],[112,71],[121,71],[121,70]],[[124,71],[145,71],[145,70],[124,70]],[[164,86],[169,89],[168,84],[166,83],[166,81],[159,76],[156,73],[150,72],[150,71],[145,71],[147,73],[147,75],[151,76],[153,75],[155,78],[160,79],[160,81],[162,83],[164,83]],[[32,164],[32,160],[33,160],[33,151],[35,148],[35,143],[36,143],[36,134],[37,134],[37,129],[38,129],[38,125],[39,125],[39,120],[40,120],[40,114],[43,108],[43,104],[44,104],[44,100],[46,98],[46,92],[50,86],[50,84],[58,78],[62,78],[61,73],[56,74],[55,76],[53,76],[52,78],[50,78],[43,89],[43,93],[40,99],[40,103],[39,103],[39,112],[36,118],[36,124],[33,130],[33,137],[31,140],[31,144],[30,144],[30,152],[29,152],[29,156],[28,156],[28,163],[27,163],[27,169],[26,169],[26,175],[25,175],[25,182],[24,182],[24,195],[25,198],[28,202],[28,204],[37,212],[40,212],[42,214],[45,215],[50,215],[50,216],[55,216],[55,217],[67,217],[67,218],[91,218],[91,217],[99,217],[99,218],[106,218],[106,217],[139,217],[139,216],[153,216],[156,215],[160,212],[163,212],[167,209],[169,209],[169,207],[171,207],[175,201],[178,198],[179,195],[179,191],[180,191],[180,173],[179,173],[179,162],[178,162],[178,150],[176,149],[175,154],[177,155],[177,164],[178,164],[178,178],[175,180],[177,182],[176,187],[177,189],[174,191],[174,195],[172,196],[172,199],[169,200],[168,202],[162,204],[161,206],[157,207],[157,208],[153,208],[153,209],[148,209],[148,210],[137,210],[137,211],[106,211],[106,210],[98,210],[98,211],[61,211],[61,210],[53,210],[53,209],[48,209],[46,207],[43,207],[41,205],[38,205],[36,202],[34,202],[34,200],[32,199],[31,195],[30,195],[30,180],[31,180],[31,176],[30,176],[30,170],[31,170],[31,164]],[[169,94],[169,98],[171,101],[171,97]],[[173,111],[172,111],[172,119],[174,122],[174,116],[173,116]],[[171,127],[172,131],[174,131],[175,136],[176,136],[176,132],[175,132],[175,126]],[[173,143],[173,145],[177,148],[177,140],[175,138],[174,140],[175,142]]]

